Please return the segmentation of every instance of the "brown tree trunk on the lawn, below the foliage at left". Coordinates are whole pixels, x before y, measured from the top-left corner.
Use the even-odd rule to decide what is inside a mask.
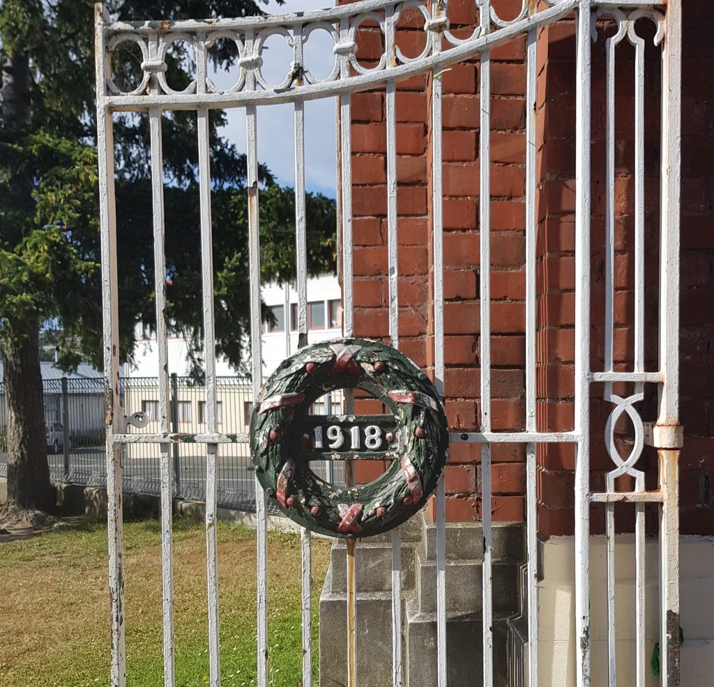
[[[6,322],[3,332],[7,406],[6,510],[51,512],[54,509],[47,464],[38,330],[38,322],[34,320]]]

